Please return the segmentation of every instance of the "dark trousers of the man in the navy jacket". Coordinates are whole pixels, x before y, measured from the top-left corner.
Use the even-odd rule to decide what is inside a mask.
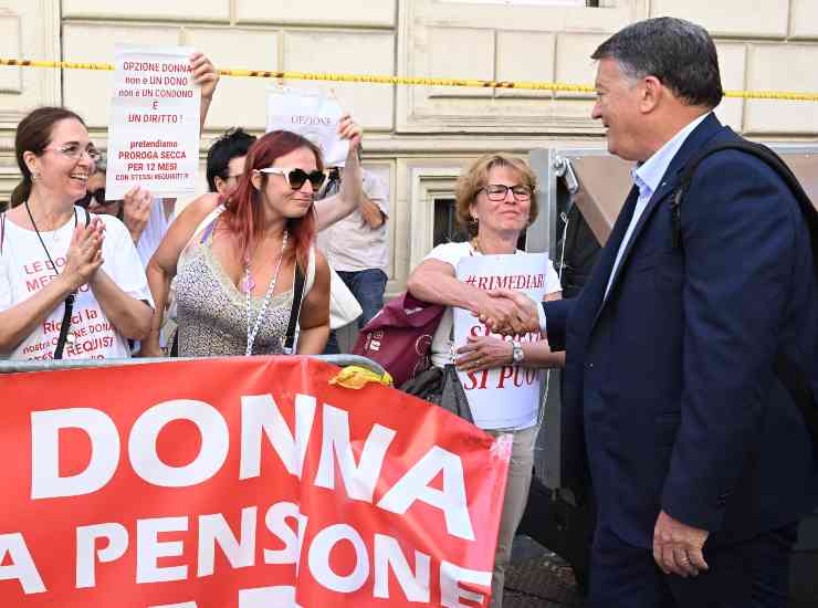
[[[594,536],[588,608],[787,608],[797,523],[740,543],[704,545],[696,577],[665,575],[653,552],[623,543],[604,524]]]

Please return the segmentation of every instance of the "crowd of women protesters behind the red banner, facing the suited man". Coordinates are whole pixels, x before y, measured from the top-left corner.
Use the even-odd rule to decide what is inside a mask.
[[[219,78],[203,55],[191,61],[207,99],[200,116],[203,126]],[[83,331],[72,319],[90,314],[109,327],[111,347],[92,355],[99,358],[128,357],[132,352],[338,353],[329,328],[328,262],[340,277],[333,289],[349,290],[360,305],[357,325],[364,327],[384,305],[390,214],[387,186],[360,166],[361,128],[345,116],[338,135],[349,141],[349,153],[343,168],[328,168],[319,148],[301,135],[275,130],[256,138],[232,128],[209,148],[209,192],[175,216],[175,199],[155,198],[139,186],[123,200],[107,200],[105,161],[82,118],[60,108],[32,112],[17,136],[23,181],[11,209],[2,214],[3,355],[88,356],[72,346],[74,334]],[[523,160],[505,155],[480,159],[464,174],[458,196],[459,216],[475,218],[463,224],[474,239],[437,248],[412,273],[415,295],[449,307],[465,298],[487,303],[485,296],[461,293],[479,290],[454,277],[457,261],[468,254],[515,252],[520,233],[536,218],[535,190],[535,178]],[[517,211],[514,218],[504,207]],[[46,277],[42,289],[27,293],[24,269],[35,264]],[[548,297],[558,297],[550,265],[547,275]],[[73,312],[63,318],[69,300]],[[66,342],[56,331],[62,326],[67,326],[63,332],[67,344],[60,344]],[[42,335],[42,327],[52,329],[49,336]],[[434,338],[438,358],[451,352],[451,327],[449,308]],[[33,343],[40,347],[27,350]],[[517,343],[499,338],[473,340],[457,360],[438,361],[433,369],[447,370],[451,388],[459,384],[453,365],[464,370],[493,368],[522,360],[521,355],[526,366],[548,367],[560,360],[547,342],[516,349]],[[475,359],[484,352],[490,356]],[[441,392],[442,385],[438,381],[432,392]],[[462,388],[458,395],[462,397]],[[422,396],[441,403],[440,395]],[[464,398],[459,406],[468,410]],[[515,432],[517,464],[510,473],[503,506],[493,606],[502,604],[503,572],[525,505],[537,430],[535,424]]]

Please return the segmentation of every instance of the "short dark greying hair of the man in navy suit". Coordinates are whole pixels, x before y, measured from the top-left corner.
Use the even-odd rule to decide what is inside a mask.
[[[614,59],[626,76],[656,76],[688,105],[717,106],[724,96],[719,54],[701,25],[659,17],[639,21],[602,42],[591,59]]]

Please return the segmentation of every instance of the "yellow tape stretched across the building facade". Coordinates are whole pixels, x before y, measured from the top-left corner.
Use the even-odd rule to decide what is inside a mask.
[[[12,67],[54,67],[62,70],[99,70],[113,71],[109,63],[74,63],[69,61],[35,61],[0,57],[0,65]],[[378,76],[367,74],[335,74],[329,72],[269,72],[259,70],[219,70],[222,76],[249,78],[282,78],[292,81],[327,81],[369,84],[400,84],[415,86],[462,86],[470,88],[517,88],[522,91],[550,91],[554,93],[595,93],[586,84],[533,81],[481,81],[470,78],[421,78],[407,76]],[[725,97],[744,99],[783,99],[789,102],[818,102],[818,93],[798,93],[789,91],[725,91]]]

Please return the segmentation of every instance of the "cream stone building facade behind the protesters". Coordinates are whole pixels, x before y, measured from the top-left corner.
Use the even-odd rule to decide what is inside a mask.
[[[592,84],[594,49],[623,25],[658,15],[711,31],[727,90],[818,92],[815,0],[0,0],[0,57],[111,63],[117,42],[185,44],[219,67]],[[65,105],[86,118],[104,149],[111,82],[109,72],[0,66],[0,200],[19,178],[20,118],[38,105]],[[390,293],[451,231],[454,180],[470,159],[604,146],[590,94],[286,84],[334,90],[365,126],[365,164],[391,192]],[[202,158],[228,127],[263,132],[269,86],[222,78]],[[818,135],[815,102],[730,98],[717,114],[758,139],[811,143]]]

